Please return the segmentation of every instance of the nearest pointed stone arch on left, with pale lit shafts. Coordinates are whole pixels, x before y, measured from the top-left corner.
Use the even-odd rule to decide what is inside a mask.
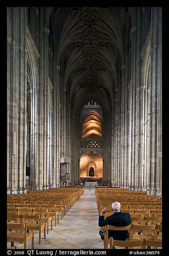
[[[37,147],[36,131],[38,127],[38,90],[39,90],[39,70],[37,61],[40,54],[34,44],[32,36],[27,27],[27,154],[26,164],[30,168],[30,181],[32,188],[37,186],[37,165],[35,151]]]

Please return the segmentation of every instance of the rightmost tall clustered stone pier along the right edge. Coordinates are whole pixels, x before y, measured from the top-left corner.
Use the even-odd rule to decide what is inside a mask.
[[[162,8],[151,8],[149,170],[150,194],[162,193]]]

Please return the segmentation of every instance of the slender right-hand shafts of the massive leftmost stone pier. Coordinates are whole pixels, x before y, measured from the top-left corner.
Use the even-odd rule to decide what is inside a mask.
[[[18,194],[26,191],[26,8],[19,9],[19,88],[18,88]],[[23,40],[24,39],[24,40]]]

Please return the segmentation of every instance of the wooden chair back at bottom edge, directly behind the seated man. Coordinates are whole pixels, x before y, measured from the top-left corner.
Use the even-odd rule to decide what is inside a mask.
[[[112,249],[113,246],[125,247],[125,249],[131,249],[133,247],[141,247],[142,248],[143,240],[120,241],[120,240],[114,240],[112,237],[110,237],[110,249]]]

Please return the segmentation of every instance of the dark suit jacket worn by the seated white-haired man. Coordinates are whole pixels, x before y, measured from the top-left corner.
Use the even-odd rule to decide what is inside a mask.
[[[128,226],[132,223],[130,219],[130,214],[127,212],[114,212],[111,216],[107,216],[104,219],[104,216],[99,216],[98,226],[112,225],[112,226]],[[113,237],[114,240],[125,241],[129,237],[128,230],[118,231],[118,230],[109,230],[109,237]]]

